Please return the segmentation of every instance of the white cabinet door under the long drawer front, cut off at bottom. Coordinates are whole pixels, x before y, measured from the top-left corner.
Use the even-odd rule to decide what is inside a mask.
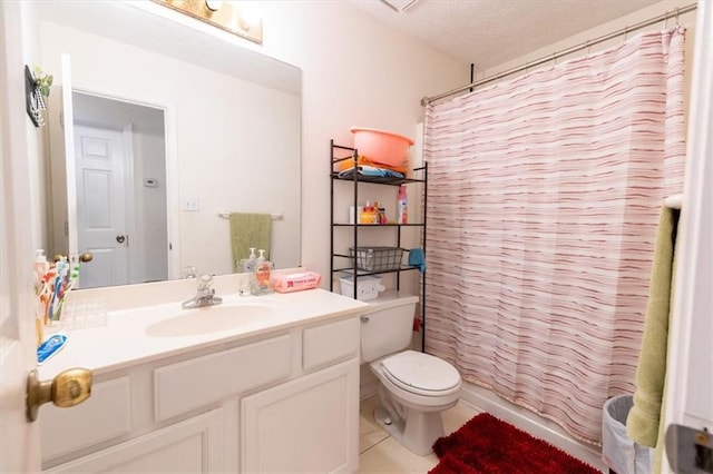
[[[223,411],[214,409],[45,472],[223,472]]]

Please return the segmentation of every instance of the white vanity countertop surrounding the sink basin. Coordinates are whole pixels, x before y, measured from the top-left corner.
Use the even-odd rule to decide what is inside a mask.
[[[324,289],[310,289],[265,296],[221,295],[223,304],[257,304],[273,308],[265,317],[246,317],[234,327],[189,336],[150,336],[147,329],[172,317],[195,317],[193,312],[209,312],[213,307],[182,309],[180,302],[109,312],[106,326],[68,333],[68,340],[57,354],[38,367],[41,379],[58,373],[85,367],[95,375],[143,364],[163,357],[218,346],[291,327],[320,323],[331,318],[356,315],[367,304]],[[203,313],[205,314],[205,313]],[[154,326],[155,327],[155,326]],[[148,332],[150,333],[150,330]]]

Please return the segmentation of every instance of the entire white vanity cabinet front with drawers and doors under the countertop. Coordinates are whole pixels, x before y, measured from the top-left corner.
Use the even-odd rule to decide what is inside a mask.
[[[40,411],[51,473],[355,472],[355,315],[186,350],[95,376]]]

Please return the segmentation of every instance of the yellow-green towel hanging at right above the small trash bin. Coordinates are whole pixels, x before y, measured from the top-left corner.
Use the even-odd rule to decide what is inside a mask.
[[[656,234],[634,406],[626,418],[626,434],[643,446],[656,445],[663,413],[677,223],[678,210],[664,206]]]

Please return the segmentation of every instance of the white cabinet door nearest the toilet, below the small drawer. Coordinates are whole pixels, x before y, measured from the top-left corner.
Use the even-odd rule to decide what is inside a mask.
[[[244,473],[356,472],[359,361],[243,398]]]

